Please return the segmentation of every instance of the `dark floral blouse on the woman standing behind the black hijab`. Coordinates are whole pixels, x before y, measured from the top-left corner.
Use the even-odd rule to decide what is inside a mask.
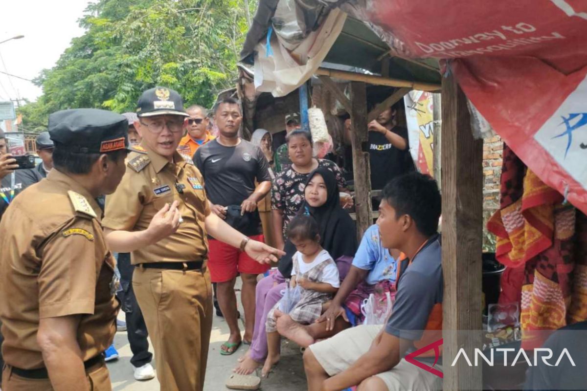
[[[342,176],[342,171],[335,164],[335,162],[327,159],[318,159],[319,167],[326,167],[332,171],[336,177],[336,182],[339,188],[346,188],[345,178]],[[306,187],[308,174],[300,174],[293,168],[288,168],[285,171],[279,172],[275,176],[273,186],[271,189],[271,209],[280,209],[284,212],[284,235],[289,222],[298,213],[304,200],[303,190]]]

